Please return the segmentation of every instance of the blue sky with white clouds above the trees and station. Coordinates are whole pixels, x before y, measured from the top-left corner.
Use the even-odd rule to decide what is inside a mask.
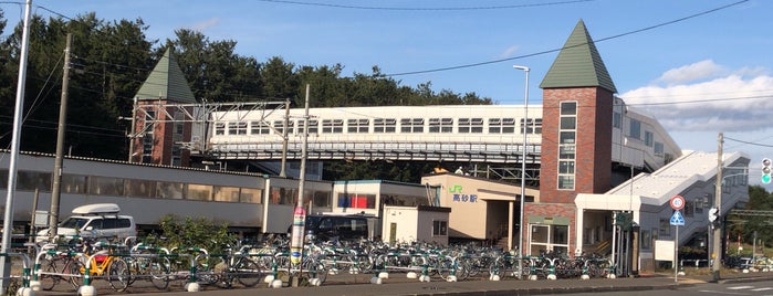
[[[773,158],[773,1],[767,0],[38,0],[33,13],[142,19],[148,39],[191,29],[233,40],[259,62],[378,66],[400,85],[541,104],[539,87],[583,20],[621,97],[686,150],[751,157],[750,183]],[[22,1],[0,1],[7,32]],[[312,86],[313,87],[313,86]],[[767,187],[769,190],[773,187]]]

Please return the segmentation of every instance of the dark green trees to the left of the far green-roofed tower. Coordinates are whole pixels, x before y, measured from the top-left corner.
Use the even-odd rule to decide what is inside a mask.
[[[147,77],[146,68],[152,43],[142,20],[107,23],[94,13],[72,21],[31,20],[24,91],[24,123],[21,149],[53,152],[55,150],[59,109],[62,97],[64,47],[72,34],[70,87],[67,89],[67,129],[65,149],[77,156],[124,159],[125,124],[118,116],[130,110],[132,97]],[[13,34],[0,43],[3,59],[2,80],[11,74],[14,83],[0,85],[0,145],[8,147],[15,102],[19,70],[21,23]]]

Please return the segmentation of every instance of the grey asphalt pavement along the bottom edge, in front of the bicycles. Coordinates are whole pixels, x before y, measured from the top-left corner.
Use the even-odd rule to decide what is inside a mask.
[[[128,292],[118,293],[109,290],[109,287],[95,283],[96,295],[122,295],[143,294],[144,296],[181,296],[181,295],[282,295],[282,296],[346,296],[346,295],[370,295],[370,296],[403,296],[403,295],[549,295],[566,293],[604,293],[616,290],[658,290],[676,289],[687,285],[699,283],[717,282],[710,274],[694,274],[677,276],[673,274],[643,274],[639,277],[618,278],[592,278],[592,279],[514,279],[503,281],[463,281],[442,282],[439,277],[431,278],[431,282],[419,282],[407,278],[405,274],[390,274],[389,278],[382,281],[382,284],[372,284],[373,275],[336,275],[331,276],[322,286],[304,287],[268,287],[261,283],[252,288],[221,289],[212,286],[202,286],[199,292],[187,292],[182,283],[173,285],[169,290],[159,292],[153,287],[133,286]],[[724,272],[720,276],[721,283],[744,283],[773,281],[773,272],[741,273]],[[36,292],[35,295],[77,295],[77,292]]]

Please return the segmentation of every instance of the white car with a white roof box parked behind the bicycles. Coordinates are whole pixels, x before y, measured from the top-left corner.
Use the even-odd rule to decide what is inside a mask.
[[[121,208],[115,203],[81,205],[72,215],[59,223],[58,235],[80,235],[81,237],[115,237],[124,240],[137,235],[137,225],[130,215],[119,215]],[[38,232],[36,242],[49,239],[49,229]]]

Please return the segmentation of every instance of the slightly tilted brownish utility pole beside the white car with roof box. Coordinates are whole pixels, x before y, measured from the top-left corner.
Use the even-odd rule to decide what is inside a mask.
[[[72,34],[67,34],[64,46],[64,70],[62,72],[62,97],[59,105],[59,127],[56,128],[56,158],[54,158],[54,180],[51,188],[51,211],[49,213],[49,241],[56,236],[59,224],[59,200],[62,191],[62,158],[64,155],[64,131],[67,124],[67,87],[70,85],[70,46]]]

